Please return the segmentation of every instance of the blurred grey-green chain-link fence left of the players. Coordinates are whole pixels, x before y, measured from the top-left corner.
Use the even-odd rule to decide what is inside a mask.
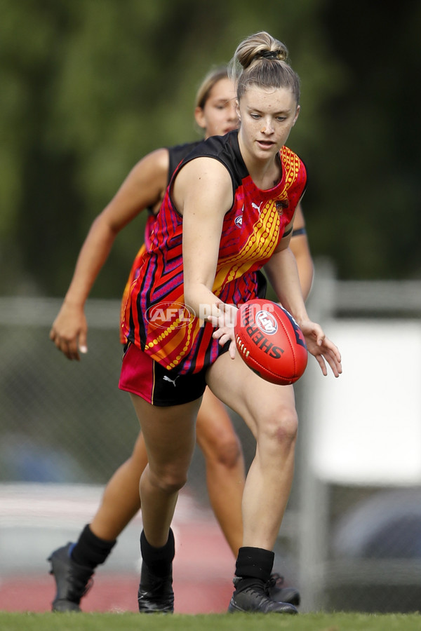
[[[88,353],[69,361],[48,339],[61,301],[0,299],[0,482],[105,484],[131,454],[139,425],[119,391],[119,301],[88,301]],[[253,441],[233,414],[246,461]],[[189,487],[206,504],[196,449]]]

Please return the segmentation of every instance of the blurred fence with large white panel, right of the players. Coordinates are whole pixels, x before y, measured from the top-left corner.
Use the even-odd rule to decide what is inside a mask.
[[[340,379],[300,386],[295,540],[305,609],[419,611],[421,283],[338,282],[316,269],[309,313]]]

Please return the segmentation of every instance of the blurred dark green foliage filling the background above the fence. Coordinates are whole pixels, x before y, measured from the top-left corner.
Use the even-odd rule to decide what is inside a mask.
[[[1,292],[65,292],[95,215],[140,157],[198,137],[192,110],[203,75],[260,29],[286,42],[302,79],[288,144],[309,168],[314,255],[333,257],[343,278],[419,275],[415,3],[393,12],[362,0],[2,8]],[[143,223],[116,240],[93,295],[119,296]]]

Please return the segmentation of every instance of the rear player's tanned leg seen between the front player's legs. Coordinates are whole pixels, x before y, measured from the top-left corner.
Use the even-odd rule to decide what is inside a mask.
[[[236,557],[243,541],[243,452],[227,409],[209,388],[203,395],[196,432],[197,444],[206,461],[210,505]]]

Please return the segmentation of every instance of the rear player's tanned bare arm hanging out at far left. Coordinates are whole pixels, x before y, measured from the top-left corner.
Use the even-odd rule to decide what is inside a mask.
[[[168,168],[167,149],[157,149],[142,158],[126,177],[112,201],[94,219],[50,332],[50,339],[67,358],[79,360],[79,351],[86,353],[86,299],[119,231],[142,210],[161,201],[166,189]]]

